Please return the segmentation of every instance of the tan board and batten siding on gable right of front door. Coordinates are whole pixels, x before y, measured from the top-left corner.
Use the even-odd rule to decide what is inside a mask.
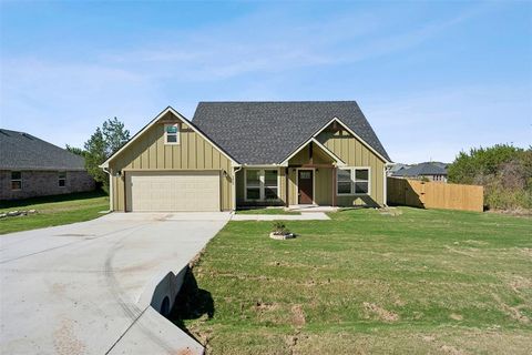
[[[385,204],[386,163],[377,154],[344,130],[337,132],[324,131],[317,136],[317,140],[341,159],[348,168],[370,168],[370,194],[338,195],[337,204],[339,206],[380,206]],[[334,191],[336,193],[336,186]]]

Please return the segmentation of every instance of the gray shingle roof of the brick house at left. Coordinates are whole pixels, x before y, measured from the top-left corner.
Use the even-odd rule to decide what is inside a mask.
[[[83,158],[28,133],[0,129],[0,170],[83,170]]]

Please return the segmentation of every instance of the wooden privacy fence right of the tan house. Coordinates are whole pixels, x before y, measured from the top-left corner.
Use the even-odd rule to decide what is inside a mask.
[[[484,187],[388,178],[388,204],[482,212]]]

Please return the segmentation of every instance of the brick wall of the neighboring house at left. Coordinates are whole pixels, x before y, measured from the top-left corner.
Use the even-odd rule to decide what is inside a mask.
[[[64,187],[59,186],[58,171],[22,171],[22,190],[13,191],[11,171],[0,171],[0,200],[92,191],[94,187],[94,180],[85,171],[68,171]]]

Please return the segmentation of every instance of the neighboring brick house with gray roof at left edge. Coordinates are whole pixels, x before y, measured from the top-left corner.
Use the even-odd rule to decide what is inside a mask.
[[[31,134],[0,129],[0,200],[94,190],[83,158]]]

